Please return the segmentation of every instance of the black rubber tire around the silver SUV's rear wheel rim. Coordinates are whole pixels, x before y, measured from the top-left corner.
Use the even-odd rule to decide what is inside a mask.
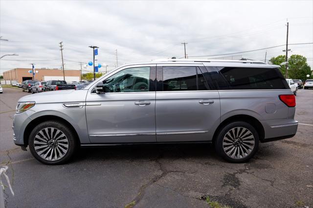
[[[250,134],[247,134],[247,135],[252,135],[253,136],[253,139],[249,139],[249,140],[241,140],[239,138],[236,138],[235,140],[236,141],[233,141],[233,143],[230,143],[231,145],[229,146],[223,146],[224,145],[224,137],[226,137],[226,134],[231,131],[232,129],[235,129],[234,131],[236,132],[237,134],[237,129],[239,129],[239,135],[240,133],[242,132],[243,134],[241,135],[241,137],[244,136],[244,134],[247,132],[244,128],[246,128],[248,131],[250,131]],[[237,131],[236,131],[237,130]],[[236,137],[236,135],[235,135]],[[250,137],[250,136],[249,136]],[[226,137],[226,139],[228,138],[228,136]],[[234,158],[232,158],[231,156],[229,156],[225,151],[224,151],[224,148],[228,148],[229,147],[229,152],[231,151],[232,149],[232,144],[235,145],[235,142],[237,142],[237,139],[239,140],[239,146],[238,148],[235,147],[235,150],[233,150],[235,152],[235,156]],[[251,141],[254,141],[254,146],[252,149],[249,149],[247,146],[244,146],[243,145],[243,142],[241,141],[248,141],[248,142],[251,142]],[[242,144],[240,144],[242,143]],[[246,143],[247,144],[247,143]],[[248,143],[249,144],[249,143]],[[238,144],[236,144],[238,145]],[[228,161],[228,162],[231,162],[231,163],[245,163],[247,162],[249,159],[251,159],[253,157],[253,155],[258,151],[258,148],[259,148],[259,135],[258,135],[258,132],[255,130],[255,128],[246,123],[246,122],[241,122],[241,121],[237,121],[237,122],[232,122],[232,123],[229,123],[227,125],[225,125],[217,134],[217,137],[216,137],[216,140],[214,141],[214,146],[215,146],[215,150],[216,152],[224,158],[224,160]],[[241,147],[241,150],[239,149]],[[247,155],[245,155],[245,157],[243,158],[237,158],[237,155],[236,155],[236,150],[238,149],[239,152],[243,152],[243,150],[248,150],[246,152],[248,152]],[[251,150],[251,151],[249,151]],[[228,151],[228,150],[226,150]],[[233,153],[233,152],[230,152],[230,154]],[[238,154],[238,153],[237,153]],[[244,154],[242,154],[244,155]],[[241,155],[240,155],[241,156]]]

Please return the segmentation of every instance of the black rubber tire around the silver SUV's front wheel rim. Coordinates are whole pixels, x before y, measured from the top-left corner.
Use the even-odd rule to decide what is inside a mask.
[[[64,133],[65,134],[65,137],[62,138],[62,140],[64,138],[67,138],[67,152],[60,158],[60,159],[57,159],[57,160],[48,160],[48,159],[44,159],[42,156],[40,156],[37,151],[40,151],[40,150],[35,150],[35,145],[34,145],[34,140],[35,140],[35,137],[38,133],[40,133],[40,131],[44,130],[45,128],[48,128],[50,129],[50,132],[51,132],[51,128],[54,128],[54,129],[57,129],[57,130],[60,130],[61,133]],[[48,131],[49,132],[49,131]],[[55,130],[53,132],[56,132]],[[60,133],[58,134],[60,135]],[[75,138],[75,135],[76,133],[73,132],[73,130],[71,128],[69,128],[67,126],[67,124],[64,124],[63,122],[60,122],[60,121],[46,121],[46,122],[43,122],[37,126],[34,127],[34,129],[32,130],[32,132],[30,133],[29,135],[29,139],[28,139],[28,145],[29,145],[29,149],[30,149],[30,152],[31,154],[41,163],[44,163],[46,165],[60,165],[60,164],[64,164],[66,163],[68,160],[71,159],[71,157],[73,156],[75,150],[77,149],[78,147],[78,141],[76,140]],[[47,134],[45,134],[45,136],[48,138]],[[57,137],[57,133],[54,134],[54,137]],[[47,142],[51,144],[51,140],[49,140]],[[38,143],[37,143],[38,144]],[[59,144],[59,143],[58,143]],[[50,145],[49,145],[50,146]],[[55,145],[56,147],[57,145]],[[45,148],[41,148],[41,149],[45,149]],[[49,150],[49,149],[48,149]],[[53,149],[52,151],[53,152]],[[57,152],[55,150],[55,152]],[[43,154],[45,154],[46,152],[44,152]],[[60,154],[59,154],[60,156]],[[47,156],[46,156],[47,157]]]

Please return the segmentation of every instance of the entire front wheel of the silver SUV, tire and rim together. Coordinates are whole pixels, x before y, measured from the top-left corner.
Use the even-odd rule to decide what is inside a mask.
[[[77,148],[76,135],[59,121],[43,122],[32,130],[28,144],[32,155],[47,165],[66,163]]]

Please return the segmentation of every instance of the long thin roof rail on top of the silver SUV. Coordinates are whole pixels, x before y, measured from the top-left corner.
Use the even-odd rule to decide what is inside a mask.
[[[153,62],[237,62],[237,63],[259,63],[266,64],[261,61],[253,60],[223,60],[223,59],[156,59]]]

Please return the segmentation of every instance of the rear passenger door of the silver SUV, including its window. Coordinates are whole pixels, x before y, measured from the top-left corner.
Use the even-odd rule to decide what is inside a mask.
[[[220,124],[220,96],[202,64],[157,64],[157,142],[209,141]]]

